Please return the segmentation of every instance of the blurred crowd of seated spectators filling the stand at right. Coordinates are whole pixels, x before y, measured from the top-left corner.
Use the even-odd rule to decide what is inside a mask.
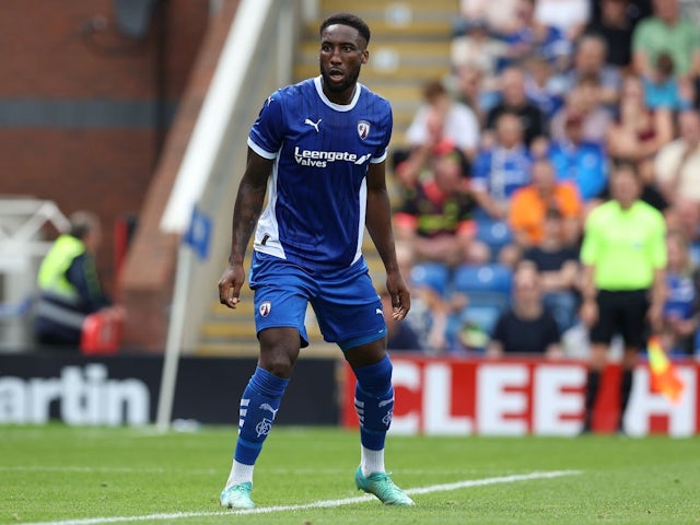
[[[584,355],[580,248],[625,163],[664,219],[654,329],[700,357],[699,23],[682,0],[462,0],[451,74],[394,152],[415,307],[389,348]]]

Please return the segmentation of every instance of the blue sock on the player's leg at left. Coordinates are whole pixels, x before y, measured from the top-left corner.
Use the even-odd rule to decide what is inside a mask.
[[[255,370],[241,398],[238,441],[233,456],[236,462],[255,464],[288,384],[289,380],[277,377],[265,369]]]

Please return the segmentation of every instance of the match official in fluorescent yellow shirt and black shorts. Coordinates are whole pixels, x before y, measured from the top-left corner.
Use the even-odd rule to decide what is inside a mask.
[[[592,429],[600,372],[616,334],[623,340],[618,424],[623,431],[637,357],[649,328],[661,328],[665,301],[666,226],[662,213],[640,199],[634,163],[612,168],[610,192],[611,199],[588,214],[581,247],[580,315],[591,337],[583,432]]]

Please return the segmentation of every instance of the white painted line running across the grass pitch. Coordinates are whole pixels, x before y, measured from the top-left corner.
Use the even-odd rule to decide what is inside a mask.
[[[562,476],[573,476],[576,474],[581,474],[581,471],[580,470],[553,470],[549,472],[517,474],[513,476],[501,476],[498,478],[468,479],[464,481],[457,481],[454,483],[431,485],[429,487],[417,487],[415,489],[407,489],[404,492],[406,492],[407,494],[430,494],[431,492],[447,492],[451,490],[467,489],[469,487],[483,487],[487,485],[514,483],[516,481],[532,481],[535,479],[560,478]],[[24,525],[102,525],[106,523],[145,522],[149,520],[158,521],[158,520],[178,520],[184,517],[234,516],[234,515],[241,515],[241,514],[270,514],[275,512],[328,509],[334,506],[351,505],[353,503],[364,503],[368,501],[376,501],[376,498],[370,494],[364,494],[357,498],[345,498],[341,500],[314,501],[314,502],[304,503],[301,505],[260,506],[257,509],[243,509],[238,511],[220,511],[220,512],[177,512],[172,514],[148,514],[143,516],[86,517],[81,520],[66,520],[60,522],[26,523]]]

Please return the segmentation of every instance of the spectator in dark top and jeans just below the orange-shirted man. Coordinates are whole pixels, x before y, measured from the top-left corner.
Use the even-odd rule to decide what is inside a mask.
[[[534,265],[540,275],[545,302],[561,334],[573,328],[580,306],[578,243],[568,238],[567,223],[556,208],[547,210],[545,236],[538,246],[525,250],[521,265]]]

